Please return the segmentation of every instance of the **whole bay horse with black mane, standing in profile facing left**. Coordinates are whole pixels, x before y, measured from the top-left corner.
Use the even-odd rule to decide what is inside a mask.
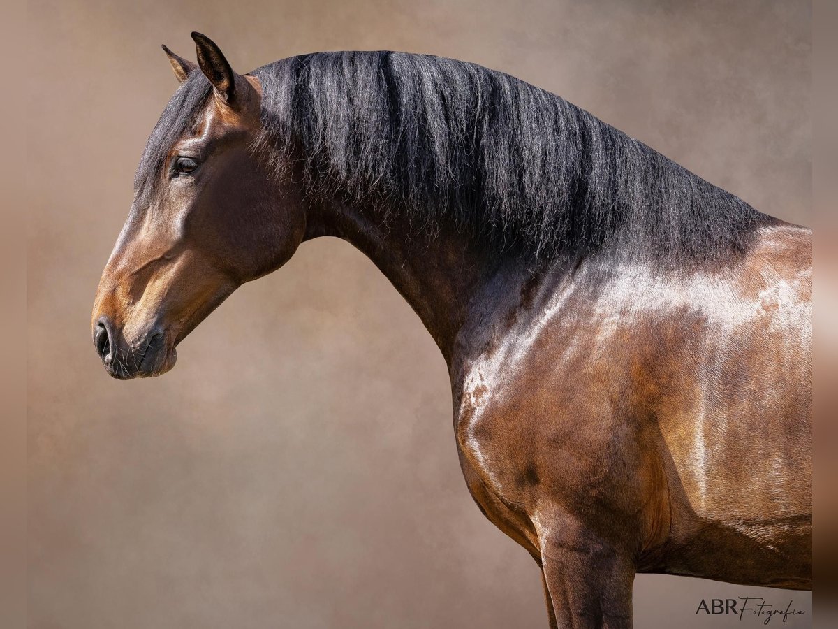
[[[479,65],[239,75],[192,37],[96,294],[111,376],[167,372],[238,286],[344,238],[442,351],[468,489],[550,626],[631,626],[638,572],[810,589],[809,229]]]

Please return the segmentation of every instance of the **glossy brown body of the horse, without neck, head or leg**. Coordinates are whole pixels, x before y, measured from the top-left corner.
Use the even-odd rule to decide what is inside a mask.
[[[468,486],[540,564],[581,529],[640,571],[810,587],[810,232],[758,242],[739,268],[526,278],[460,340]]]

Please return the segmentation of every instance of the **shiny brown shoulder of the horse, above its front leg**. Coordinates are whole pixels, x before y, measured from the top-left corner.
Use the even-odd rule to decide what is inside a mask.
[[[473,494],[488,491],[530,520],[556,505],[589,514],[587,526],[613,520],[605,534],[640,552],[669,528],[654,409],[633,392],[648,374],[626,351],[654,335],[603,308],[578,287],[536,294],[463,361],[455,428],[467,480],[479,479]]]

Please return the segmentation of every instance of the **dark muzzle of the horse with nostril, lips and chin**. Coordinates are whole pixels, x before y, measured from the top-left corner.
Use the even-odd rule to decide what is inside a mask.
[[[131,341],[106,314],[93,326],[93,345],[105,371],[118,380],[159,376],[177,360],[177,352],[162,328],[153,327]]]

